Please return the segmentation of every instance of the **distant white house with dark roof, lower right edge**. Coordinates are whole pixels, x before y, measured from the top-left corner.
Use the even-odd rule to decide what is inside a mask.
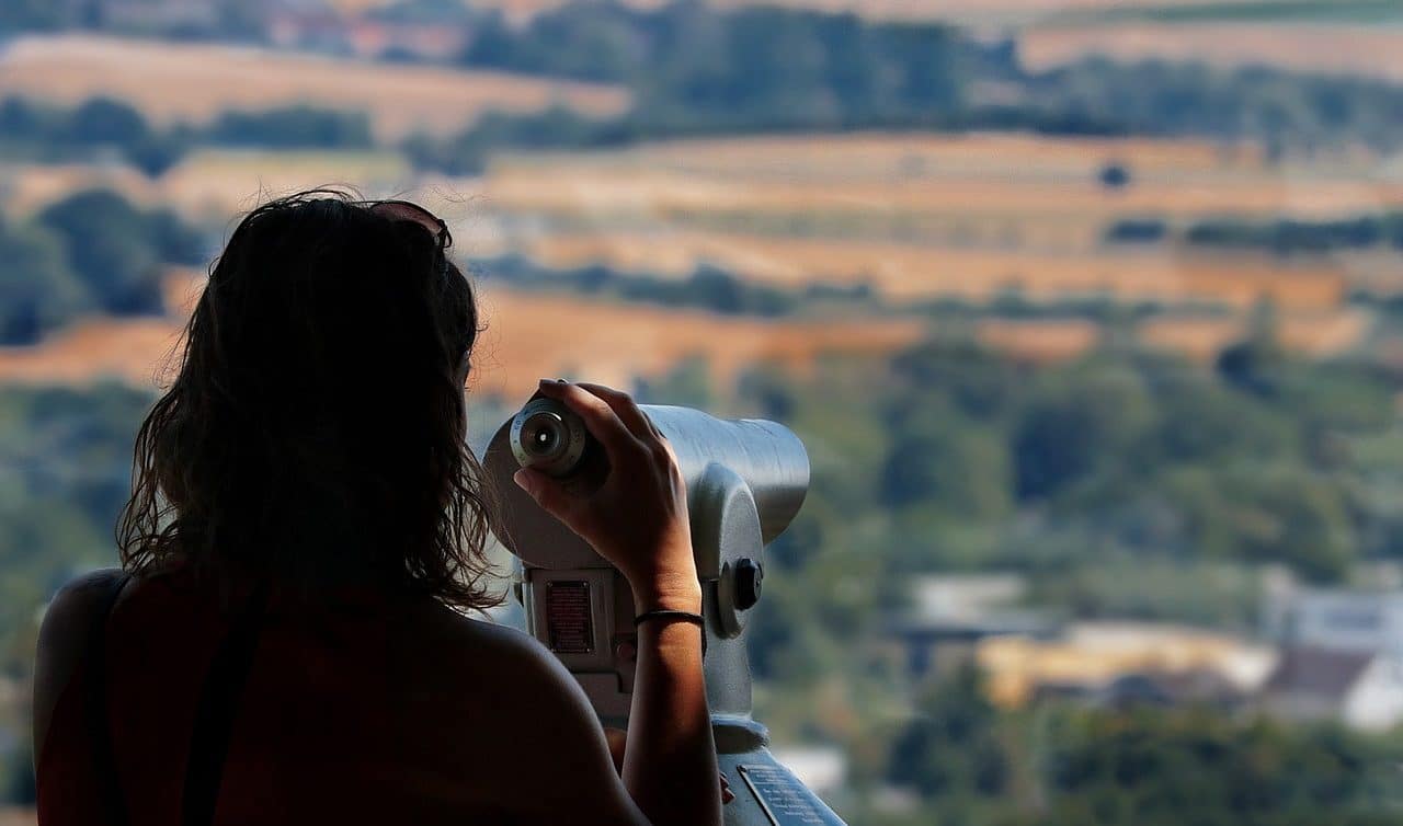
[[[1371,651],[1288,648],[1260,701],[1266,711],[1289,719],[1389,729],[1403,721],[1403,659]]]

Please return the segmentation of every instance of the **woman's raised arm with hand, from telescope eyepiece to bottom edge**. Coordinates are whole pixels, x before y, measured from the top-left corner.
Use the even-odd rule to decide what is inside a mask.
[[[619,568],[640,613],[700,613],[686,482],[672,446],[623,393],[563,381],[542,381],[540,393],[579,414],[610,473],[589,495],[533,470],[519,471],[516,482]],[[623,780],[654,823],[721,822],[702,630],[690,623],[655,618],[638,628]]]

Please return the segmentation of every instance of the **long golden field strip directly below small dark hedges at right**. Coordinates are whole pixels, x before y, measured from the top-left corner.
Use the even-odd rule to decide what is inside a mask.
[[[1125,300],[1214,302],[1249,307],[1336,307],[1345,273],[1322,261],[1289,265],[1256,255],[1114,252],[1061,255],[1030,250],[918,247],[739,234],[598,234],[543,237],[526,251],[553,266],[600,262],[620,269],[690,272],[710,262],[787,287],[870,282],[892,299],[991,299],[1017,289],[1030,299],[1108,294]]]

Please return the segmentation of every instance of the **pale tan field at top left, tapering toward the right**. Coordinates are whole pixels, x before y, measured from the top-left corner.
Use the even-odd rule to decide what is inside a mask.
[[[230,108],[311,102],[368,111],[386,139],[417,129],[455,132],[488,109],[526,112],[560,102],[605,116],[629,105],[627,93],[607,86],[88,35],[25,36],[6,45],[3,94],[65,104],[107,94],[166,123],[199,123]]]

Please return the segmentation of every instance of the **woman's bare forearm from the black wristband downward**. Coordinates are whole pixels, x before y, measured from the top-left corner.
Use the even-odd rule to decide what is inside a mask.
[[[641,610],[702,611],[702,592],[634,595]],[[638,627],[623,781],[654,823],[721,822],[716,745],[702,673],[702,628],[679,620]]]

